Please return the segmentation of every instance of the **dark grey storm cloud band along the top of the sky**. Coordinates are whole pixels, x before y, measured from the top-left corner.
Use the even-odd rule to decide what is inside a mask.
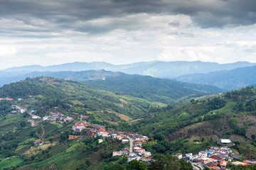
[[[255,6],[255,0],[1,0],[0,18],[22,21],[28,28],[24,26],[21,30],[40,31],[44,27],[45,32],[69,29],[101,33],[115,28],[135,29],[139,23],[116,19],[100,25],[88,21],[122,18],[136,13],[169,13],[191,16],[202,28],[221,28],[256,23]],[[169,23],[170,26],[178,24]],[[14,27],[19,29],[19,26]]]

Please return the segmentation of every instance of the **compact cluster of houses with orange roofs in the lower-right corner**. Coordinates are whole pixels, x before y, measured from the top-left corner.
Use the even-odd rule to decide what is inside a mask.
[[[230,145],[230,140],[225,140]],[[232,150],[227,147],[210,147],[206,151],[200,151],[198,154],[193,155],[192,153],[187,153],[185,157],[181,153],[175,155],[178,159],[185,159],[186,161],[192,163],[198,163],[201,167],[208,167],[209,169],[226,169],[228,163],[231,165],[241,165],[247,166],[248,164],[256,164],[256,161],[253,160],[244,160],[240,162],[240,157],[237,154],[233,154]]]

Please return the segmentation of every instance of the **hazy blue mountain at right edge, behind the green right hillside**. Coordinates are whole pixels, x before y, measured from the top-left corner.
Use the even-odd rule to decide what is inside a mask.
[[[256,66],[243,67],[230,71],[210,72],[208,74],[187,74],[177,77],[178,81],[196,84],[210,84],[222,89],[240,89],[256,84]]]

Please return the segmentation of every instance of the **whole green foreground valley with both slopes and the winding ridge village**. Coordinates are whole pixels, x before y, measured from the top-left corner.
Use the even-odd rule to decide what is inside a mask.
[[[235,144],[230,149],[240,156],[238,161],[256,159],[252,87],[197,94],[200,97],[167,105],[37,77],[4,85],[0,94],[3,169],[129,169],[133,164],[156,169],[162,159],[170,167],[193,169],[206,166],[196,155],[221,147],[220,138]],[[191,166],[183,161],[185,156],[177,159],[178,153],[192,153],[201,163],[191,159]],[[156,162],[149,164],[152,159]]]

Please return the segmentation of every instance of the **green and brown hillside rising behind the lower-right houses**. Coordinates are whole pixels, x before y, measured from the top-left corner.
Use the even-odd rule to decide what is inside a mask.
[[[256,89],[247,87],[224,95],[191,99],[145,118],[131,129],[159,140],[147,149],[156,152],[193,152],[217,145],[220,138],[245,159],[256,159]]]

